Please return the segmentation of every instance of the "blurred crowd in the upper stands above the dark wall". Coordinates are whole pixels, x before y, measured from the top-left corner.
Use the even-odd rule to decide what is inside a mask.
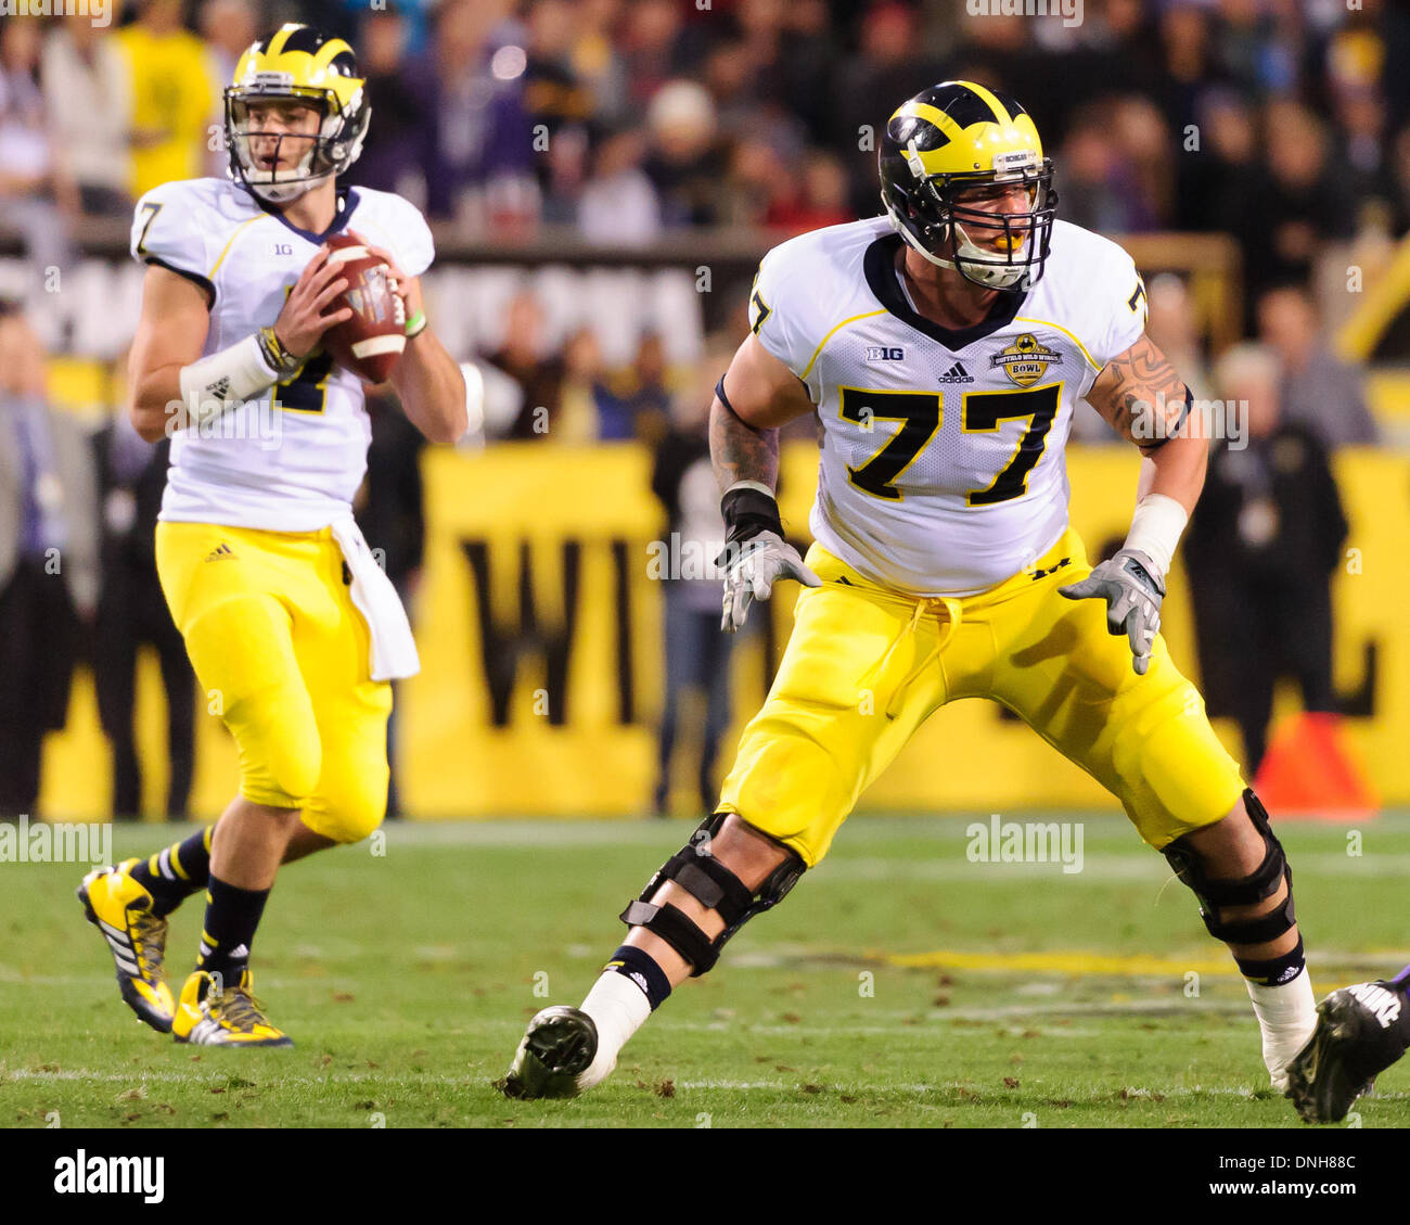
[[[1217,230],[1255,292],[1327,240],[1410,224],[1410,11],[1389,0],[128,0],[109,27],[7,18],[0,195],[70,224],[223,172],[220,90],[290,17],[347,34],[374,123],[352,178],[503,236],[785,234],[877,210],[876,131],[948,76],[1042,120],[1062,210],[1104,233]]]

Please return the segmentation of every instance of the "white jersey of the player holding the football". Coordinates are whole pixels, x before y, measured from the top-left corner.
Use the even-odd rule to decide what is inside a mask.
[[[324,234],[312,234],[228,179],[185,179],[137,202],[133,255],[195,281],[210,299],[204,353],[274,323],[329,234],[352,230],[419,277],[434,255],[415,205],[344,188]],[[161,518],[312,532],[348,514],[367,470],[362,382],[316,354],[257,402],[172,436]]]

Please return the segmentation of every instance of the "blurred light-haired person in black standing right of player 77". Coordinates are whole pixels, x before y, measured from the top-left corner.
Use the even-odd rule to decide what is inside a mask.
[[[1220,360],[1220,395],[1248,404],[1248,446],[1211,447],[1184,542],[1206,704],[1238,720],[1249,778],[1279,677],[1297,679],[1306,710],[1335,708],[1331,574],[1347,519],[1317,435],[1282,416],[1280,375],[1263,346],[1235,346]]]

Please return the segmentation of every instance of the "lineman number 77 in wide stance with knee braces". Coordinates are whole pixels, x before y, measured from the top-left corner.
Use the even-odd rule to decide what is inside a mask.
[[[567,1097],[752,916],[822,859],[863,789],[935,710],[1010,707],[1114,796],[1228,943],[1273,1084],[1314,1026],[1292,874],[1268,816],[1159,636],[1204,480],[1191,397],[1144,334],[1118,246],[1055,220],[1052,162],[1011,97],[942,82],[880,148],[885,216],[770,251],[752,334],[716,390],[729,525],[725,629],[804,584],[719,807],[632,902],[581,1009],[529,1025],[503,1084]],[[1125,548],[1096,569],[1067,524],[1063,449],[1087,399],[1142,454]],[[816,412],[807,560],[774,501],[778,428]]]

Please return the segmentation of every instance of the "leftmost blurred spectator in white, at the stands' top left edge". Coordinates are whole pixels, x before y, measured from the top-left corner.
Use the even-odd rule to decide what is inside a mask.
[[[62,213],[75,216],[79,200],[49,137],[41,31],[38,17],[0,21],[0,216],[20,229],[30,260],[42,270],[69,262]]]

